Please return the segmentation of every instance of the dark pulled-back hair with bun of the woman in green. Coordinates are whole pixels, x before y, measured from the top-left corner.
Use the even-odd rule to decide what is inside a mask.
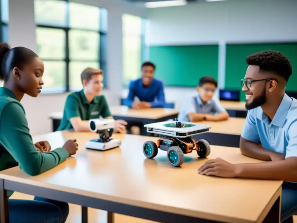
[[[7,81],[14,67],[22,69],[35,57],[38,57],[37,54],[26,47],[18,46],[10,49],[7,43],[0,43],[0,80]]]

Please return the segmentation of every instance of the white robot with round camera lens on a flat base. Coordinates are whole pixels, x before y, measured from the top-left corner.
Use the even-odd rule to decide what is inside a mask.
[[[92,139],[85,145],[86,149],[109,150],[121,146],[120,139],[113,139],[114,119],[90,119],[89,128],[99,135],[98,139]]]

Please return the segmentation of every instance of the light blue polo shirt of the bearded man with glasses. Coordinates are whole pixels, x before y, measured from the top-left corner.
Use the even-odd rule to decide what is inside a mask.
[[[261,107],[249,110],[241,137],[286,158],[297,156],[297,100],[285,94],[271,122]]]

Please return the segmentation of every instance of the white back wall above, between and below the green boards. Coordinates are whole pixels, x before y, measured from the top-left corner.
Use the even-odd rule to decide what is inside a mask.
[[[150,9],[148,45],[219,43],[218,84],[225,85],[225,44],[297,41],[296,0],[228,0]],[[167,88],[180,108],[195,88]],[[123,95],[126,95],[124,92]]]

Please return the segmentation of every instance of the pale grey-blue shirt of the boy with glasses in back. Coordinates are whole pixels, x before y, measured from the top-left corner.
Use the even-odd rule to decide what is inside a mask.
[[[189,122],[189,113],[199,113],[199,114],[217,114],[225,112],[226,109],[221,105],[219,100],[212,97],[205,104],[199,94],[187,98],[178,114],[178,120],[181,122]]]

